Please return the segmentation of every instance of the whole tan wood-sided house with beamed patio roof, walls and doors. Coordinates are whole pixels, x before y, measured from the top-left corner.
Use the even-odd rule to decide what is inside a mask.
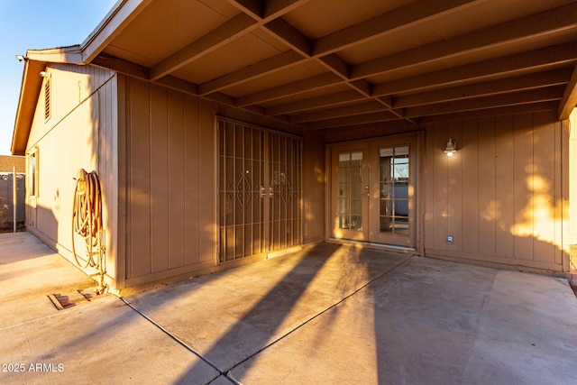
[[[84,258],[94,170],[116,294],[323,241],[575,265],[574,0],[125,0],[24,59],[28,231]]]

